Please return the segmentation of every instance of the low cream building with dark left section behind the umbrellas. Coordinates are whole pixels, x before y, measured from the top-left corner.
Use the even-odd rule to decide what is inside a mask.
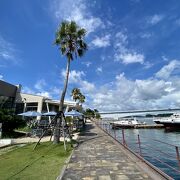
[[[21,93],[21,85],[15,86],[0,80],[0,108],[14,108],[15,113],[23,113],[26,111],[49,112],[58,111],[59,100]],[[73,101],[64,102],[64,111],[72,109],[82,110],[82,106]]]

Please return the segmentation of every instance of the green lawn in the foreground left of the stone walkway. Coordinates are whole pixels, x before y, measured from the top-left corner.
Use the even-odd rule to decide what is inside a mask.
[[[29,144],[0,155],[0,179],[56,179],[72,148],[67,145],[64,151],[62,143],[41,143],[35,150]]]

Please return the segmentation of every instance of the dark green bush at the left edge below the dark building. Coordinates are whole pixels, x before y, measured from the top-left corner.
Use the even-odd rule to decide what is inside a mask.
[[[24,127],[26,122],[14,114],[13,110],[0,109],[0,123],[2,123],[2,132],[12,132],[16,128]]]

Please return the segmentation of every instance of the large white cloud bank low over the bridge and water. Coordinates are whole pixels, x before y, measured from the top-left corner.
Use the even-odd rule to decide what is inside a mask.
[[[180,78],[130,80],[124,73],[88,92],[90,107],[100,111],[147,110],[180,106]]]

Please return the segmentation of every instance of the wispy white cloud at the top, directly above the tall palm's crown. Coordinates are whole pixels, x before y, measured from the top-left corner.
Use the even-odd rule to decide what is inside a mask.
[[[87,33],[103,27],[102,20],[92,15],[86,0],[55,0],[51,4],[52,12],[58,20],[74,20],[84,27]]]

